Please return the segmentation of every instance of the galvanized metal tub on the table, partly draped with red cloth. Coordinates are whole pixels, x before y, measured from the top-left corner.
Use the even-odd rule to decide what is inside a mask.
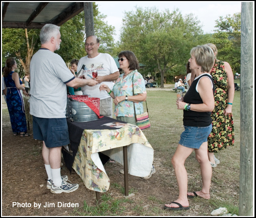
[[[98,119],[97,114],[86,103],[76,100],[69,100],[69,103],[74,121],[88,122]]]

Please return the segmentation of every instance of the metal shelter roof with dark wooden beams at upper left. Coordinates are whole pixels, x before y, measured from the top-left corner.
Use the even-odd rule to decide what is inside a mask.
[[[2,28],[42,28],[62,25],[84,9],[84,2],[3,2]]]

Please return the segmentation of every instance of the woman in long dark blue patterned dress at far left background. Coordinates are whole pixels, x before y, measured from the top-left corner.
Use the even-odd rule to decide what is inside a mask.
[[[25,115],[24,101],[21,90],[25,96],[29,96],[19,74],[14,70],[17,69],[15,58],[11,57],[6,60],[4,68],[5,85],[7,88],[7,106],[10,114],[13,134],[21,134],[22,137],[29,136],[27,133],[27,123]]]

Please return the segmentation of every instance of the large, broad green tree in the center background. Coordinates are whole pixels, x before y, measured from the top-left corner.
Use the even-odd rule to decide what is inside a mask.
[[[132,50],[147,67],[164,77],[175,68],[184,67],[190,56],[190,49],[206,43],[202,36],[200,21],[193,14],[182,16],[179,9],[159,12],[155,7],[125,12],[121,29],[121,49]]]

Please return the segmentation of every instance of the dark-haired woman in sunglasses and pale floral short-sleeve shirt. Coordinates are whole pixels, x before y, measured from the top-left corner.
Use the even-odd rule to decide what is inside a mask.
[[[114,115],[116,119],[137,125],[134,102],[136,115],[144,113],[143,101],[146,101],[147,98],[144,78],[138,72],[139,61],[134,52],[125,50],[120,52],[118,57],[120,68],[124,73],[117,78],[112,90],[106,84],[101,84],[99,89],[101,91],[106,90],[114,99]],[[156,170],[153,166],[150,174],[143,178],[150,178],[155,172]],[[120,173],[123,173],[123,170],[120,170]]]

